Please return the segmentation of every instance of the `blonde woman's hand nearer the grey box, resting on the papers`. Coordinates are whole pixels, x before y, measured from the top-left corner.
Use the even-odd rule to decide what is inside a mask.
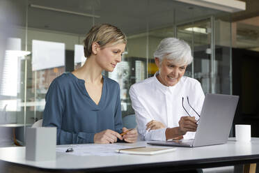
[[[114,143],[117,142],[117,137],[120,140],[123,140],[123,137],[117,133],[116,131],[113,130],[103,130],[100,133],[96,133],[95,136],[93,137],[93,142],[97,144],[109,144],[109,143]]]

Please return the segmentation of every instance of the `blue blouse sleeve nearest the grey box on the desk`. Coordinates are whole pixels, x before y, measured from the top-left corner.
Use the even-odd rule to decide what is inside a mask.
[[[46,95],[46,105],[43,112],[42,126],[57,128],[57,144],[84,144],[93,143],[95,133],[71,133],[62,130],[62,119],[65,112],[65,91],[61,89],[57,80],[54,80]]]

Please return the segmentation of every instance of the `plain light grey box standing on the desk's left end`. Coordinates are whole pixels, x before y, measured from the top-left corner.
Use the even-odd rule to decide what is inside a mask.
[[[26,160],[56,160],[56,127],[26,128]]]

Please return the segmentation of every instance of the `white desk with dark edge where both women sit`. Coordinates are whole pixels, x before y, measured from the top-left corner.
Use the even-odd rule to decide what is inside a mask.
[[[140,146],[146,142],[122,145]],[[88,144],[86,144],[88,145]],[[25,147],[0,148],[0,160],[15,167],[31,169],[35,172],[123,172],[148,170],[189,170],[205,167],[220,167],[259,163],[259,138],[250,143],[235,142],[230,138],[227,144],[202,146],[197,148],[177,147],[176,151],[155,156],[121,154],[119,156],[73,156],[68,153],[56,153],[56,160],[34,162],[25,160]],[[17,169],[17,168],[16,168]]]

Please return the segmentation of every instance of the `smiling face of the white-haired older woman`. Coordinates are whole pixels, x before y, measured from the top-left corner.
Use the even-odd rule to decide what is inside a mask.
[[[164,58],[161,65],[159,59],[155,58],[155,63],[159,67],[159,75],[157,79],[159,82],[167,87],[172,87],[177,84],[181,77],[185,75],[186,66],[177,66],[172,60]]]

